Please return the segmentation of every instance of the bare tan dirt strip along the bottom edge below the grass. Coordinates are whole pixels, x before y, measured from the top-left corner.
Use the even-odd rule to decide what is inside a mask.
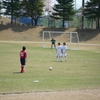
[[[8,94],[0,100],[100,100],[100,89]]]

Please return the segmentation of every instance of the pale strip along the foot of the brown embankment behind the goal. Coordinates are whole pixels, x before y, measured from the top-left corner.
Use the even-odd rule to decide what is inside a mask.
[[[0,40],[1,43],[37,43],[37,44],[42,44],[42,42],[33,42],[33,41],[4,41]],[[45,42],[46,44],[50,44],[50,42]],[[69,44],[69,43],[67,43]],[[77,43],[73,43],[73,45],[76,45]],[[83,46],[100,46],[100,44],[87,44],[87,43],[80,43],[80,45]]]

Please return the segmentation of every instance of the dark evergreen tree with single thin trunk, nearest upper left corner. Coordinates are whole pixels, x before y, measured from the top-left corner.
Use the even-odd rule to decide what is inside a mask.
[[[5,9],[4,15],[11,16],[11,25],[13,24],[13,18],[19,16],[20,0],[6,0],[3,1],[3,8]]]

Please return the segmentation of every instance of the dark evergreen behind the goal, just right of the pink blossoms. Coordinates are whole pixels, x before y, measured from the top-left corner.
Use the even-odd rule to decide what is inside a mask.
[[[58,4],[54,5],[51,17],[54,19],[61,19],[63,21],[62,27],[64,27],[65,21],[73,20],[75,14],[73,8],[73,0],[57,0]]]

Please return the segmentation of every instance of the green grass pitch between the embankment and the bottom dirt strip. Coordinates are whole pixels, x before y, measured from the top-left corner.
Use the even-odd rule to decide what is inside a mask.
[[[19,73],[23,45],[28,58],[25,73]],[[49,71],[49,67],[53,70]],[[0,43],[0,94],[98,88],[100,52],[68,50],[68,61],[56,62],[55,49]]]

